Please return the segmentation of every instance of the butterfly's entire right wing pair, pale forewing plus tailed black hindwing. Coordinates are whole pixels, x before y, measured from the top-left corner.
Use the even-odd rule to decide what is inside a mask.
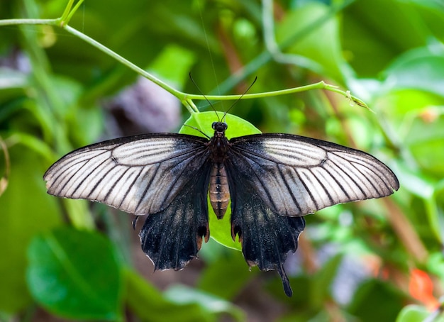
[[[226,171],[232,235],[248,264],[277,270],[297,248],[304,216],[333,204],[379,198],[399,189],[389,168],[365,152],[298,135],[247,135],[230,140]]]

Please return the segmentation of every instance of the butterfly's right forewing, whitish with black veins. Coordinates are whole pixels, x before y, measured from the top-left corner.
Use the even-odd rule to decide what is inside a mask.
[[[392,170],[375,157],[334,143],[288,134],[230,142],[231,165],[255,182],[261,200],[281,216],[304,216],[399,189]]]

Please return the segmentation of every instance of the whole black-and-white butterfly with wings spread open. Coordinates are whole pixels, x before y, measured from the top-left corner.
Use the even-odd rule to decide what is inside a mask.
[[[281,133],[228,140],[227,123],[212,128],[207,138],[154,133],[79,148],[45,173],[48,193],[148,215],[139,235],[155,270],[182,269],[209,239],[208,195],[217,218],[231,200],[231,236],[248,265],[277,270],[292,296],[284,261],[303,216],[399,189],[389,167],[359,150]]]

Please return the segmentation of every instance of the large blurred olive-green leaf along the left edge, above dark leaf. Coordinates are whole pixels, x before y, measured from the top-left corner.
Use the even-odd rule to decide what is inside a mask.
[[[32,301],[25,280],[26,248],[36,233],[60,225],[61,218],[57,200],[46,194],[45,162],[38,153],[15,145],[9,155],[8,187],[0,196],[0,311],[16,313]]]

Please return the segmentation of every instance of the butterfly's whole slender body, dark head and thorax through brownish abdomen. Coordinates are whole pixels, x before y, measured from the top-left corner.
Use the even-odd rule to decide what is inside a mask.
[[[210,173],[209,194],[211,207],[213,207],[217,218],[221,219],[226,213],[228,202],[230,201],[230,189],[228,188],[228,179],[224,166],[230,142],[225,136],[225,131],[228,127],[226,123],[214,122],[212,127],[214,135],[208,143],[211,150],[211,160],[213,161]]]

